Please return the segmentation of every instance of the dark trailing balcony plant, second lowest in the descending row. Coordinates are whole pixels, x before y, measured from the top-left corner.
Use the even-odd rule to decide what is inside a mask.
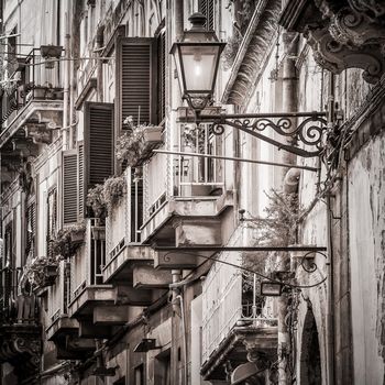
[[[77,252],[84,243],[86,227],[84,223],[75,224],[59,230],[53,242],[55,255],[68,258]]]

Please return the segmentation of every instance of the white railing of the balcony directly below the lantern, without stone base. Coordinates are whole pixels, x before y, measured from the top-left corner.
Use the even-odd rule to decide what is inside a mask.
[[[223,155],[222,138],[210,124],[178,124],[175,152]],[[144,221],[170,198],[221,195],[224,188],[222,160],[191,155],[154,155],[143,167]],[[162,175],[162,178],[160,176]]]

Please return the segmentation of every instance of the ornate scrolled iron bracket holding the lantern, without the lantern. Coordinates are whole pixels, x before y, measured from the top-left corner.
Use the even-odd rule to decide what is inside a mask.
[[[212,123],[212,133],[221,135],[224,133],[224,125],[230,125],[243,131],[254,138],[270,143],[278,150],[285,150],[292,154],[302,157],[315,157],[322,155],[324,151],[324,134],[328,129],[326,120],[327,112],[287,112],[287,113],[245,113],[245,114],[200,114],[196,111],[197,123]],[[293,120],[305,118],[298,125]],[[286,143],[276,141],[262,132],[273,130]],[[301,148],[299,143],[311,146],[310,150]]]

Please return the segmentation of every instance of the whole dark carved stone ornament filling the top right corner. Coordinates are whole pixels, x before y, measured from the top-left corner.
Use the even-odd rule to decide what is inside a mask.
[[[377,82],[385,73],[385,1],[288,1],[279,24],[304,33],[317,63],[334,74],[361,68]]]

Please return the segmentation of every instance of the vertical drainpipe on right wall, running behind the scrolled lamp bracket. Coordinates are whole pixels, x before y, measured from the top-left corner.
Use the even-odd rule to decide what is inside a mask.
[[[298,109],[297,106],[297,85],[298,77],[293,57],[297,56],[298,52],[298,36],[293,33],[283,34],[285,58],[283,61],[283,110],[284,112],[295,112]],[[293,119],[292,123],[297,124],[297,120]],[[293,140],[288,140],[288,144],[293,144]],[[284,163],[296,164],[296,155],[290,153],[284,153]],[[284,176],[284,191],[295,193],[298,190],[299,170],[289,168]],[[287,253],[278,255],[277,270],[282,272],[288,272],[290,270],[290,260]],[[292,384],[292,378],[288,371],[287,356],[289,352],[289,331],[286,326],[285,319],[287,316],[287,294],[283,294],[278,297],[278,384],[288,385]]]

